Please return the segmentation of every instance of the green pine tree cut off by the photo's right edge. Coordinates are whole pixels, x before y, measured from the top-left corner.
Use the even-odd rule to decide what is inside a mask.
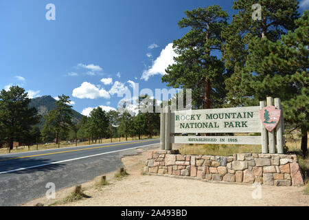
[[[301,151],[308,155],[309,130],[309,51],[308,29],[309,11],[298,19],[294,32],[282,36],[282,39],[268,42],[265,50],[268,56],[262,60],[262,68],[274,72],[260,83],[260,89],[273,89],[277,97],[282,98],[284,120],[290,129],[301,131]]]

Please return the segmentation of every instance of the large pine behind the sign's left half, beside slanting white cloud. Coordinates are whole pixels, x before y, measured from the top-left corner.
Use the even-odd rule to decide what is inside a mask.
[[[165,71],[163,83],[174,88],[192,89],[196,108],[209,109],[222,105],[225,98],[224,80],[227,78],[222,61],[213,52],[220,52],[221,31],[227,26],[228,14],[220,6],[185,11],[187,18],[179,21],[180,28],[190,28],[183,38],[174,41],[179,56]]]

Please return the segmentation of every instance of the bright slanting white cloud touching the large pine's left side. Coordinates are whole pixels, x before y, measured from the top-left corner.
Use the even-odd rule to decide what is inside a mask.
[[[162,76],[166,74],[165,69],[168,68],[168,65],[174,64],[174,57],[177,57],[173,50],[173,44],[169,43],[162,51],[160,56],[152,62],[152,67],[144,70],[141,75],[141,79],[148,80],[150,76],[155,76],[161,74]]]

